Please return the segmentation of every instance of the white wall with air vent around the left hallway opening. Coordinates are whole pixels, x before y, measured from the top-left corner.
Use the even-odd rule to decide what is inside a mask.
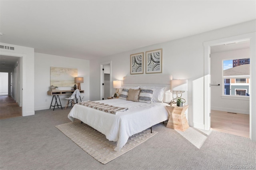
[[[0,43],[1,45],[12,46],[15,50],[0,49],[1,55],[21,57],[19,67],[19,93],[22,99],[22,116],[34,115],[34,48],[18,45]]]

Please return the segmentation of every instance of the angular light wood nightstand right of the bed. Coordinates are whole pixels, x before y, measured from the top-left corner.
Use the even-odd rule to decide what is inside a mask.
[[[188,105],[184,105],[183,107],[166,106],[166,109],[169,114],[169,120],[166,127],[180,130],[182,132],[189,128],[185,115]]]

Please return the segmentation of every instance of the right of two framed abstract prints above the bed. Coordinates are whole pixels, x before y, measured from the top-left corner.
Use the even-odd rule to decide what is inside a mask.
[[[146,51],[147,73],[162,73],[162,48]]]

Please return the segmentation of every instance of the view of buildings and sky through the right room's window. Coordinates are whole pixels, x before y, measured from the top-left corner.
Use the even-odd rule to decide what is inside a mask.
[[[249,96],[250,58],[223,61],[224,95]]]

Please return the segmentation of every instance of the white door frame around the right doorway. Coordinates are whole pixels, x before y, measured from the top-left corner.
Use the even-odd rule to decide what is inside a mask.
[[[256,32],[204,42],[204,129],[210,129],[210,46],[250,40],[250,139],[256,140]]]

